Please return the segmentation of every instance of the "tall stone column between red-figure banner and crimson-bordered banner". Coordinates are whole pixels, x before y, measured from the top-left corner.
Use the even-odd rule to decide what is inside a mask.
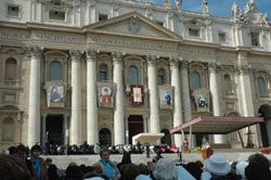
[[[116,98],[114,111],[115,145],[125,144],[124,121],[124,85],[122,85],[122,56],[120,52],[113,52],[113,81],[116,83]]]

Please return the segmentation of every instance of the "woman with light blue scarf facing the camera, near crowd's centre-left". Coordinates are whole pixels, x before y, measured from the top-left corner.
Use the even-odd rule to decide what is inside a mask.
[[[108,149],[103,149],[100,152],[101,159],[99,163],[102,166],[102,175],[105,175],[109,178],[109,180],[119,180],[121,175],[117,168],[117,166],[109,160],[111,151]]]

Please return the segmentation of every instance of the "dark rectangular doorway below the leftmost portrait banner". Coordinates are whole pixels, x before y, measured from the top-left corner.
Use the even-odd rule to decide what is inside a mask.
[[[49,144],[64,144],[63,115],[49,115],[47,117],[47,139]]]

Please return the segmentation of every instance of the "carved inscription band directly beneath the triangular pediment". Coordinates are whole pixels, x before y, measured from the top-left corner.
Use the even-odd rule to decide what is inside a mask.
[[[177,46],[154,43],[149,41],[138,41],[138,40],[127,40],[122,38],[112,38],[112,37],[89,37],[90,43],[99,43],[105,46],[118,46],[118,47],[129,47],[138,49],[151,49],[159,51],[177,51]]]

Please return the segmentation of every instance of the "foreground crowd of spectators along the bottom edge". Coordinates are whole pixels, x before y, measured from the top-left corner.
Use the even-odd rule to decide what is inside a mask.
[[[34,145],[27,157],[23,144],[10,147],[0,155],[0,180],[271,180],[270,160],[262,154],[249,156],[247,162],[228,162],[219,154],[205,160],[184,164],[182,159],[163,157],[160,147],[147,164],[133,164],[131,153],[125,152],[121,162],[112,162],[112,151],[100,150],[100,160],[92,166],[70,163],[57,170],[52,159],[40,157],[42,149]]]

